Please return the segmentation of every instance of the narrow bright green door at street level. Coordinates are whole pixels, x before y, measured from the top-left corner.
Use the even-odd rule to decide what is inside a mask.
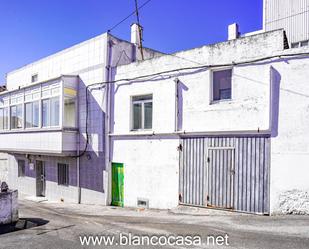
[[[123,207],[123,164],[112,163],[112,205]]]

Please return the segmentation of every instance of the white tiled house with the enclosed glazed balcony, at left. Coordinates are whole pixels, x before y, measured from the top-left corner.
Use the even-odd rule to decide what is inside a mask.
[[[49,200],[108,204],[108,87],[96,83],[140,51],[105,33],[9,72],[0,93],[0,180]],[[159,54],[143,49],[146,59]]]

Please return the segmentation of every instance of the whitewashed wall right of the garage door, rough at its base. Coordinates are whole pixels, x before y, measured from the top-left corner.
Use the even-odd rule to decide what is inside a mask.
[[[278,136],[271,139],[270,207],[273,213],[309,214],[309,58],[273,67],[281,80]]]

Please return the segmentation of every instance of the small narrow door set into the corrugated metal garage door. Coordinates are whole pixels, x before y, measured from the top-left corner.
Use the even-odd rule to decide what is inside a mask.
[[[208,207],[233,209],[234,151],[234,148],[208,149]]]

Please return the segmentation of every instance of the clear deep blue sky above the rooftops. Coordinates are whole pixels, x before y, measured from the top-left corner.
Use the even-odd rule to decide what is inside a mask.
[[[138,0],[142,5],[147,0]],[[262,28],[263,0],[151,0],[140,10],[144,46],[165,53]],[[134,11],[134,0],[0,0],[0,85],[5,74],[105,33]],[[130,17],[111,34],[130,40]]]

